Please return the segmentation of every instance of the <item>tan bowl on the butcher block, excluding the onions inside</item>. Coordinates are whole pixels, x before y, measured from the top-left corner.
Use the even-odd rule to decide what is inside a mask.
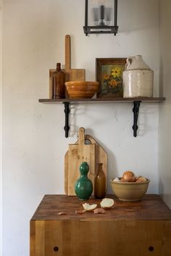
[[[150,180],[144,182],[110,181],[114,194],[122,201],[141,200],[149,187]]]

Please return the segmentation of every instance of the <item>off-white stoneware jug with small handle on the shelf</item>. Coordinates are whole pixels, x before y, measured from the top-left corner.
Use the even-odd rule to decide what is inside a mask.
[[[154,71],[143,61],[141,55],[129,57],[123,71],[123,97],[153,96]]]

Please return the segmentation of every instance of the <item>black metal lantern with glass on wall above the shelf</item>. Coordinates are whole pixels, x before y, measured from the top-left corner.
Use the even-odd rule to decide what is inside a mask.
[[[90,4],[91,2],[91,4]],[[86,36],[91,33],[113,33],[116,36],[117,26],[117,0],[85,0],[85,26]]]

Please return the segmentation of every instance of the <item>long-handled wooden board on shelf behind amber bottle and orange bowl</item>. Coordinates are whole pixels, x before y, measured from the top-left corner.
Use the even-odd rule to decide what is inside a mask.
[[[71,69],[71,39],[69,35],[64,38],[64,50],[65,50],[65,69],[62,70],[65,73],[65,81],[84,81],[85,69]],[[55,69],[49,70],[49,98],[52,99],[52,77]]]

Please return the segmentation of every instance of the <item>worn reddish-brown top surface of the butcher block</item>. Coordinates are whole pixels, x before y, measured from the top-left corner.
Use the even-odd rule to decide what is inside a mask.
[[[141,201],[123,202],[114,197],[114,208],[105,214],[84,212],[76,214],[75,210],[83,209],[83,203],[97,204],[101,199],[91,197],[86,201],[67,195],[45,195],[31,220],[171,220],[171,210],[157,194],[146,194]],[[65,215],[59,215],[65,212]]]

